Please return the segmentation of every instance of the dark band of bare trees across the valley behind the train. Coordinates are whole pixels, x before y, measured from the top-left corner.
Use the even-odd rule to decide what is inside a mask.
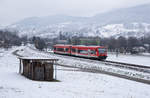
[[[11,46],[20,46],[22,43],[31,43],[39,49],[43,50],[47,47],[53,47],[55,44],[59,44],[58,40],[66,40],[65,44],[72,45],[101,45],[106,46],[109,51],[115,52],[133,52],[135,47],[143,47],[145,51],[150,52],[150,36],[145,37],[123,37],[118,38],[101,38],[101,37],[66,37],[61,34],[57,38],[40,38],[27,36],[19,37],[17,32],[0,30],[0,47],[9,48]]]

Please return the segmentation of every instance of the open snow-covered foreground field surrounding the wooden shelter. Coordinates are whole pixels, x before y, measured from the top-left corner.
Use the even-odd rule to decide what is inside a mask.
[[[29,80],[18,74],[19,60],[12,54],[24,48],[3,51],[0,57],[0,98],[150,98],[150,85],[105,74],[58,70],[60,82]]]

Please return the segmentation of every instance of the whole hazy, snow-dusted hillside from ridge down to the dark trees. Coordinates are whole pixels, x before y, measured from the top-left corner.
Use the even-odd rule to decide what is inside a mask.
[[[9,25],[20,35],[57,37],[59,32],[68,36],[144,36],[150,33],[150,4],[122,8],[93,17],[54,15],[31,17]],[[137,36],[136,36],[137,35]]]

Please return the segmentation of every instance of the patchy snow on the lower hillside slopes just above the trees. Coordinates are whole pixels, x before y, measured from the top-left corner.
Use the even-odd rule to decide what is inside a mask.
[[[30,19],[29,19],[30,20]],[[32,20],[31,20],[32,21]],[[20,33],[20,36],[28,35],[40,36],[46,38],[55,38],[59,36],[61,31],[63,35],[67,37],[73,36],[99,36],[99,37],[143,37],[150,32],[150,24],[140,23],[140,22],[131,22],[131,23],[120,23],[120,24],[96,24],[96,23],[84,23],[81,21],[71,22],[60,22],[55,24],[36,24],[30,23],[27,25],[22,22],[19,24],[12,24],[8,26],[10,29],[17,29]]]

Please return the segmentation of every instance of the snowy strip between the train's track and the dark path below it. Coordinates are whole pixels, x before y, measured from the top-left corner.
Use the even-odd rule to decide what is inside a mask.
[[[130,76],[134,78],[142,78],[150,81],[150,74],[149,73],[143,73],[131,69],[126,68],[119,68],[114,67],[110,65],[106,65],[104,62],[99,61],[91,61],[91,60],[85,60],[81,58],[76,57],[70,57],[70,56],[62,56],[62,55],[55,55],[53,53],[45,53],[43,51],[37,51],[32,47],[25,47],[24,49],[18,50],[17,54],[21,56],[30,56],[30,57],[44,57],[44,58],[57,58],[59,59],[59,64],[64,64],[68,66],[74,66],[84,69],[92,69],[92,70],[99,70],[99,71],[105,71],[115,74],[121,74],[125,76]]]

